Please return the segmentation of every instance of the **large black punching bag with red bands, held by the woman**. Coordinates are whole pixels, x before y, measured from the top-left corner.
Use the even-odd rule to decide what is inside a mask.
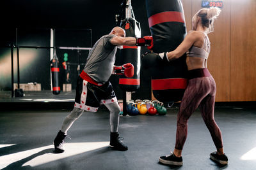
[[[180,0],[146,0],[146,5],[154,53],[144,55],[142,66],[151,73],[152,91],[157,100],[180,101],[188,83],[186,54],[167,62],[156,53],[175,50],[186,36],[182,3]]]

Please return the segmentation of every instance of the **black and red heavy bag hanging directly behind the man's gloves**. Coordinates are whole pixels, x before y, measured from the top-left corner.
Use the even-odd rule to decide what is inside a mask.
[[[125,30],[126,37],[140,37],[140,23],[134,18],[125,18],[120,27]],[[131,62],[134,66],[134,76],[127,78],[121,75],[119,78],[120,89],[126,92],[132,92],[140,88],[140,46],[123,46],[120,50],[120,56],[116,58],[116,66],[122,66]]]

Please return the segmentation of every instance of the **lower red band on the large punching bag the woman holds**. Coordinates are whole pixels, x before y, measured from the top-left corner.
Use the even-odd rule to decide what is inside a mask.
[[[186,89],[188,80],[185,78],[166,78],[151,80],[152,90]]]

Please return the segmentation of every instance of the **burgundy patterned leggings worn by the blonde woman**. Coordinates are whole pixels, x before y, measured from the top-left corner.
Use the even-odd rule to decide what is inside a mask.
[[[189,79],[188,87],[180,103],[177,115],[177,131],[175,148],[182,150],[188,135],[188,119],[196,108],[200,108],[205,125],[211,133],[216,148],[222,148],[222,136],[218,125],[214,120],[214,103],[216,83],[207,69],[193,70]],[[206,74],[205,74],[206,73]]]

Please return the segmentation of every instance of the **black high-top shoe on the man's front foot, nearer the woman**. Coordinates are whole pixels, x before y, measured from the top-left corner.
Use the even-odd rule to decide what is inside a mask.
[[[125,151],[128,150],[128,147],[122,143],[122,137],[118,137],[118,132],[110,132],[110,143],[109,146],[114,150]]]

